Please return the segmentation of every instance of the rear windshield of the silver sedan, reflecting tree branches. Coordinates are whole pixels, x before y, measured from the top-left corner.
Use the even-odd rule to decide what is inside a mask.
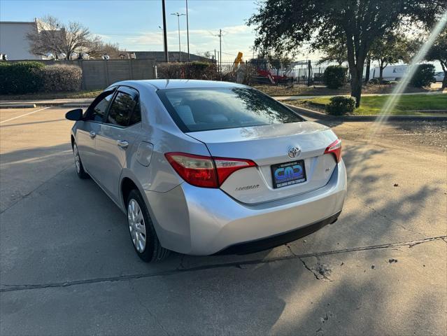
[[[245,87],[170,89],[157,94],[183,132],[304,121],[267,94]]]

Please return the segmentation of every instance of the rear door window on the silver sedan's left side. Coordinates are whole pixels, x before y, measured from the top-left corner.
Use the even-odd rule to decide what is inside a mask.
[[[137,99],[125,92],[118,92],[108,111],[107,123],[122,127],[139,123],[141,113]]]

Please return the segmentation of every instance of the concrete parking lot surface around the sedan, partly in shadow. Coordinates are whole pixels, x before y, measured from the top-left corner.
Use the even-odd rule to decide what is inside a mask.
[[[146,264],[125,215],[77,178],[66,111],[0,110],[1,335],[446,334],[445,122],[331,121],[339,221],[269,251]]]

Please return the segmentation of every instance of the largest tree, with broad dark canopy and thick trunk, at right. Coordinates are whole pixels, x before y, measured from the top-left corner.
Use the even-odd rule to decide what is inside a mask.
[[[371,44],[413,22],[432,25],[447,10],[446,0],[262,0],[248,25],[256,27],[255,45],[290,52],[310,43],[346,44],[351,96],[360,106],[362,73]]]

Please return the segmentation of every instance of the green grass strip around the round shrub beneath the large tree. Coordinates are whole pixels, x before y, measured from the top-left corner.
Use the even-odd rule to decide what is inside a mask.
[[[381,113],[381,109],[390,96],[366,96],[362,97],[360,107],[355,109],[354,115],[374,116]],[[324,111],[324,106],[329,104],[330,96],[313,99],[299,99],[287,101],[295,106],[308,106],[318,111]],[[447,94],[403,94],[390,114],[393,116],[426,116],[432,113],[420,112],[420,110],[447,110]],[[447,114],[447,113],[437,113]]]

